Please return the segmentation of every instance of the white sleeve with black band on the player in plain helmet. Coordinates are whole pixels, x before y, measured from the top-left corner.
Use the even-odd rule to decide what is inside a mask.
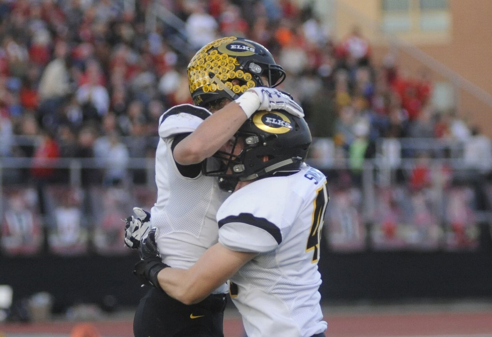
[[[217,220],[218,242],[232,251],[267,253],[282,242],[282,233],[277,225],[251,213]]]

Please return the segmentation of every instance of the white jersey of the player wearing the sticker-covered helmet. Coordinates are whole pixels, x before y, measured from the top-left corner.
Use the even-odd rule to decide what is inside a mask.
[[[200,173],[184,177],[174,161],[171,144],[178,134],[193,132],[211,113],[190,104],[175,106],[159,118],[159,143],[155,153],[157,202],[151,209],[151,224],[159,228],[157,247],[162,262],[190,268],[217,243],[215,216],[229,195],[218,187],[217,178]],[[217,292],[227,292],[224,284]]]

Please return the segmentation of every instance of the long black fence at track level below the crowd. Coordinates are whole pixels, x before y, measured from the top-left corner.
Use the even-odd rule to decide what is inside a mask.
[[[373,251],[340,253],[322,241],[318,263],[324,303],[361,300],[492,300],[492,242],[489,225],[480,225],[473,252]],[[325,229],[326,230],[326,229]],[[131,273],[135,252],[101,256],[90,250],[64,257],[44,252],[31,257],[0,256],[0,284],[13,287],[14,302],[39,291],[54,296],[54,310],[78,303],[136,306],[145,292]]]

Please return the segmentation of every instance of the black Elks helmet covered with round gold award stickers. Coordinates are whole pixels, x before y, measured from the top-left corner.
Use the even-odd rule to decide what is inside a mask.
[[[276,87],[285,80],[285,71],[268,49],[235,36],[204,46],[193,56],[187,70],[193,104],[202,107],[224,97],[235,100],[255,86]],[[263,83],[262,75],[268,83]],[[232,84],[232,80],[239,84]]]

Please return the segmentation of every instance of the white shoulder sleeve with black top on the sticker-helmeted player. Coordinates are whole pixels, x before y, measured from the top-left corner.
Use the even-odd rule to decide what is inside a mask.
[[[210,115],[211,113],[207,109],[191,104],[177,105],[160,116],[159,137],[168,138],[193,132]]]

